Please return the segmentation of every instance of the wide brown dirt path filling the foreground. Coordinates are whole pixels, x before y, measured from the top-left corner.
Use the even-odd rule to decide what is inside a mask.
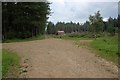
[[[5,43],[22,58],[27,78],[114,78],[117,67],[71,41],[46,39]],[[23,73],[21,74],[23,76]]]

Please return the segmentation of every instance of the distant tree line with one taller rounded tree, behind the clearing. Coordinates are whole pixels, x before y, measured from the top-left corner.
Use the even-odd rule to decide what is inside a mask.
[[[56,34],[57,31],[63,30],[65,33],[72,32],[92,32],[94,34],[108,32],[114,35],[118,32],[118,18],[109,17],[108,21],[103,21],[100,11],[89,16],[89,21],[83,24],[71,22],[49,22],[47,25],[48,34]]]

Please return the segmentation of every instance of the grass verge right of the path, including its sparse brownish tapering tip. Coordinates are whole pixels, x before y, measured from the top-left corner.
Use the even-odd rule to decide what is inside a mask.
[[[88,40],[91,40],[91,38]],[[117,36],[105,36],[92,40],[93,41],[91,42],[80,42],[79,39],[79,40],[75,40],[75,44],[81,47],[88,47],[93,53],[96,53],[96,55],[99,55],[100,57],[105,58],[108,61],[112,61],[113,63],[118,65]]]

